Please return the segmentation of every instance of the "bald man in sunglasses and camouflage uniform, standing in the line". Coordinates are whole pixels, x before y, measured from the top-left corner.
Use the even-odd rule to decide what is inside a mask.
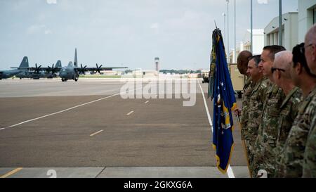
[[[291,130],[294,119],[298,113],[298,105],[302,101],[301,89],[295,87],[291,80],[291,51],[281,51],[275,54],[275,62],[272,67],[273,81],[279,86],[287,96],[280,106],[279,121],[277,126],[277,140],[274,148],[275,155],[275,177],[282,177],[280,174],[282,164],[280,162],[280,153],[284,148],[284,143]]]

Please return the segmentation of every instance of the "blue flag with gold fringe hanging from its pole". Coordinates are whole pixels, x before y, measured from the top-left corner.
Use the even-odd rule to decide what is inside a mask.
[[[214,98],[213,148],[216,150],[217,167],[225,174],[234,146],[232,110],[235,110],[237,105],[228,71],[223,37],[219,29],[213,31],[208,96],[212,100]]]

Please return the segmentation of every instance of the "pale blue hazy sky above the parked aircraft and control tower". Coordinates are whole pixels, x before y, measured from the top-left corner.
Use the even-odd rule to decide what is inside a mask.
[[[250,1],[236,0],[237,41],[250,28]],[[233,1],[230,0],[230,48]],[[283,13],[298,0],[283,1]],[[209,68],[214,20],[223,30],[225,0],[0,0],[0,69],[62,65],[74,60],[93,66],[154,70]],[[278,0],[254,0],[254,28],[278,15]]]

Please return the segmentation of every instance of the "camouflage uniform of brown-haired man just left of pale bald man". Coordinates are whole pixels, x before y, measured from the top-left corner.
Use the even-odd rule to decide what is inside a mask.
[[[263,90],[266,91],[266,94],[263,94],[265,103],[255,143],[254,165],[256,166],[256,172],[260,169],[265,169],[268,177],[274,177],[275,153],[273,149],[277,143],[280,106],[284,101],[285,95],[277,85],[271,82],[269,84],[270,87]]]

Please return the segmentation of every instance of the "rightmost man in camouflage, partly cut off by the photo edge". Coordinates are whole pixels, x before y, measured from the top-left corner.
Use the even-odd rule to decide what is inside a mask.
[[[313,56],[312,56],[313,55]],[[316,24],[313,25],[305,36],[305,58],[308,68],[316,75]],[[310,117],[310,132],[306,142],[303,159],[303,177],[316,177],[316,98],[310,101],[306,113]]]

